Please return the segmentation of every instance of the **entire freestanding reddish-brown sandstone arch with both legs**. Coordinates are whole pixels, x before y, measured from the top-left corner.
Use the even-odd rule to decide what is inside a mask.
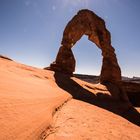
[[[120,82],[121,70],[115,49],[111,45],[110,32],[106,29],[104,20],[87,9],[80,10],[67,24],[56,60],[50,68],[54,71],[72,74],[75,70],[75,58],[71,48],[83,35],[87,35],[88,39],[102,51],[100,82]]]

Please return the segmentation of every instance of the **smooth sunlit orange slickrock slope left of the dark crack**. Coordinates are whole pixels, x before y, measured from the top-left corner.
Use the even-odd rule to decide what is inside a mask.
[[[70,95],[53,72],[0,58],[0,140],[36,140]]]

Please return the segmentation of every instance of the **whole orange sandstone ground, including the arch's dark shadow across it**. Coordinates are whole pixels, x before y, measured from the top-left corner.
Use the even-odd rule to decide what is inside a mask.
[[[140,107],[106,86],[0,58],[0,140],[139,140]]]

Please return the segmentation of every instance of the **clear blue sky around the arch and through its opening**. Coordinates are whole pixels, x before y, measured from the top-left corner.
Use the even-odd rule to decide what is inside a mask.
[[[102,17],[122,75],[140,76],[140,0],[0,0],[0,54],[36,67],[56,58],[68,21],[80,9]],[[73,47],[76,72],[100,74],[99,48],[83,36]]]

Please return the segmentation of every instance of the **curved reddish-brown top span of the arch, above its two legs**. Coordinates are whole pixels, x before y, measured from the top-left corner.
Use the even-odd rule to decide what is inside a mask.
[[[62,45],[71,48],[83,35],[101,48],[105,39],[110,44],[110,33],[105,28],[105,22],[90,10],[80,10],[67,24],[62,39]]]

